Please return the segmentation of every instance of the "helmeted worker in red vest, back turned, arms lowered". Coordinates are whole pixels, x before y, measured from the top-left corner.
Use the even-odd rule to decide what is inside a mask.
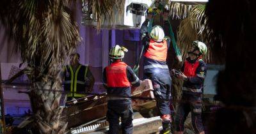
[[[116,45],[111,48],[109,57],[111,64],[104,68],[103,84],[108,93],[109,133],[119,133],[119,118],[121,117],[122,133],[132,133],[133,111],[131,99],[118,96],[131,96],[131,86],[140,86],[140,79],[136,76],[132,68],[122,61],[125,47]]]

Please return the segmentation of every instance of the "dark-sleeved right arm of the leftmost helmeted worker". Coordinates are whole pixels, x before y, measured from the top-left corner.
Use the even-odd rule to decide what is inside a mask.
[[[137,75],[134,73],[132,68],[130,66],[127,66],[126,68],[127,78],[129,82],[131,82],[132,86],[138,87],[140,86],[141,80],[137,77]]]

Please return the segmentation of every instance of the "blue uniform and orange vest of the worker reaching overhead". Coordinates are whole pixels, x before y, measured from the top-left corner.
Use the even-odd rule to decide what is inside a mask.
[[[141,26],[141,35],[147,33],[148,20]],[[168,23],[164,23],[163,29],[169,29]],[[168,33],[168,31],[164,31]],[[166,57],[168,48],[170,47],[170,40],[163,40],[161,42],[154,41],[148,36],[142,40],[145,45],[144,54],[144,78],[152,80],[154,87],[154,95],[157,98],[157,108],[162,115],[170,114],[170,100],[171,98],[171,85],[172,78],[170,71],[166,64]],[[163,100],[164,99],[164,100]]]

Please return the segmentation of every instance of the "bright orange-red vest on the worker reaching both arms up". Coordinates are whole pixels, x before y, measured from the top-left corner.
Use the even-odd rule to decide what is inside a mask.
[[[156,61],[166,61],[167,57],[167,41],[163,40],[162,42],[156,42],[150,39],[148,44],[148,49],[145,52],[145,57],[149,59],[154,59]]]

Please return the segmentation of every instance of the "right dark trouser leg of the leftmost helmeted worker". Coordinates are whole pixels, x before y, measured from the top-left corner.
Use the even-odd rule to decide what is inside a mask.
[[[132,125],[132,119],[133,119],[133,111],[131,105],[122,112],[121,114],[121,128],[123,134],[132,134],[133,125]]]

